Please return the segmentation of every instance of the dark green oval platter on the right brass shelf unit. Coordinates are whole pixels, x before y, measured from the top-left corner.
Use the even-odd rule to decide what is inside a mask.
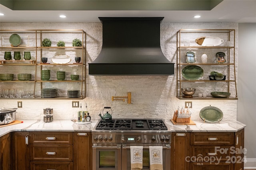
[[[186,80],[198,80],[199,78],[202,78],[202,76],[204,76],[204,70],[197,65],[185,66],[182,69],[182,76]]]

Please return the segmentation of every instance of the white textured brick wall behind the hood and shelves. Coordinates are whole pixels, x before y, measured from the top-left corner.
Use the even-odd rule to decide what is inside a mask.
[[[1,23],[1,29],[84,29],[86,32],[86,63],[90,63],[99,55],[102,47],[101,23]],[[166,58],[176,63],[176,32],[179,29],[238,29],[238,23],[161,23],[161,48]],[[237,31],[236,31],[237,33]],[[236,35],[236,39],[237,39]],[[54,39],[54,37],[52,37]],[[188,37],[186,37],[188,38]],[[185,38],[184,38],[185,39]],[[236,42],[238,42],[236,40]],[[191,42],[192,43],[192,42]],[[236,47],[238,45],[236,44]],[[237,49],[237,48],[236,48]],[[186,52],[186,51],[185,51]],[[184,53],[185,53],[184,52]],[[200,61],[201,53],[196,52],[196,60]],[[218,52],[218,51],[216,51]],[[235,51],[237,55],[237,51]],[[3,59],[3,55],[0,55]],[[215,59],[208,55],[208,60]],[[236,61],[237,63],[237,61]],[[22,69],[22,68],[20,68]],[[55,68],[54,68],[55,69]],[[57,69],[57,68],[56,68]],[[76,69],[76,68],[70,68]],[[1,67],[0,67],[1,70]],[[20,72],[10,66],[14,74]],[[204,67],[204,78],[207,78],[211,68]],[[2,70],[1,70],[2,72]],[[178,100],[176,96],[176,69],[173,76],[91,76],[86,65],[86,96],[79,100],[83,108],[88,105],[92,119],[98,119],[104,106],[110,106],[114,118],[172,118],[178,106],[184,106],[185,101],[192,101],[193,120],[200,120],[199,112],[203,107],[216,106],[224,113],[225,120],[236,120],[237,100]],[[196,83],[188,87],[204,88],[203,92],[214,91],[216,84]],[[1,89],[5,88],[3,83]],[[9,84],[12,88],[20,87],[20,83]],[[66,84],[61,83],[64,88]],[[217,86],[222,86],[217,84]],[[36,88],[40,88],[39,84]],[[72,87],[73,88],[73,87]],[[223,87],[223,90],[226,89]],[[127,101],[111,101],[111,96],[127,96],[132,94],[132,104]],[[202,92],[199,89],[196,91]],[[239,96],[238,96],[239,97]],[[17,101],[22,101],[18,109],[17,119],[43,119],[43,109],[53,108],[54,119],[74,119],[77,108],[72,108],[71,100],[1,100],[0,107],[17,107]]]

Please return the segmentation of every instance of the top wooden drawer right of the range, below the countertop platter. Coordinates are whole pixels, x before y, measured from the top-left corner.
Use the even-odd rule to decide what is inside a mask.
[[[192,132],[190,145],[234,145],[234,133]]]

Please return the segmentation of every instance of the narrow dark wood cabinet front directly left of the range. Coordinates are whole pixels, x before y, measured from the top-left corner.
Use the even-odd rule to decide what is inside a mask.
[[[74,132],[74,170],[92,169],[92,133]]]

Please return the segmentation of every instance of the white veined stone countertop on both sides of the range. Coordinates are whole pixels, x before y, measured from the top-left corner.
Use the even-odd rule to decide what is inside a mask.
[[[90,124],[78,125],[71,120],[54,120],[45,123],[40,120],[21,120],[23,123],[0,127],[0,137],[12,131],[92,131],[98,120]],[[173,125],[170,120],[165,120],[168,129],[172,132],[237,132],[246,125],[239,121],[220,121],[220,123],[204,123],[194,121],[196,125]]]

